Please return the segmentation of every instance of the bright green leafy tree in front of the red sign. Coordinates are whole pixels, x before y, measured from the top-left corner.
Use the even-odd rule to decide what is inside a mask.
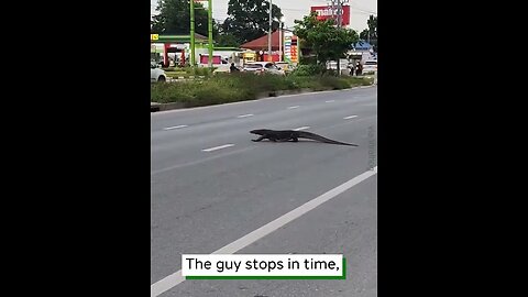
[[[294,34],[301,40],[302,46],[310,48],[317,57],[317,64],[326,70],[328,61],[344,57],[348,50],[358,42],[358,33],[345,28],[337,28],[333,20],[318,21],[314,11],[302,21],[295,20]],[[338,73],[339,73],[338,63]]]

